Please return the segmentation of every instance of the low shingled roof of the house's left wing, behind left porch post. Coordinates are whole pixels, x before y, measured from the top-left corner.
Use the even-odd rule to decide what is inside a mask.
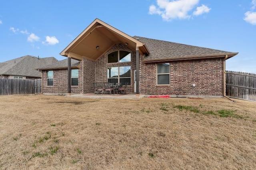
[[[80,61],[71,59],[71,68],[78,68],[79,64],[80,64]],[[38,68],[38,70],[56,70],[56,69],[63,69],[63,68],[68,68],[68,59],[64,59],[62,61],[58,61],[53,64],[42,66]]]

